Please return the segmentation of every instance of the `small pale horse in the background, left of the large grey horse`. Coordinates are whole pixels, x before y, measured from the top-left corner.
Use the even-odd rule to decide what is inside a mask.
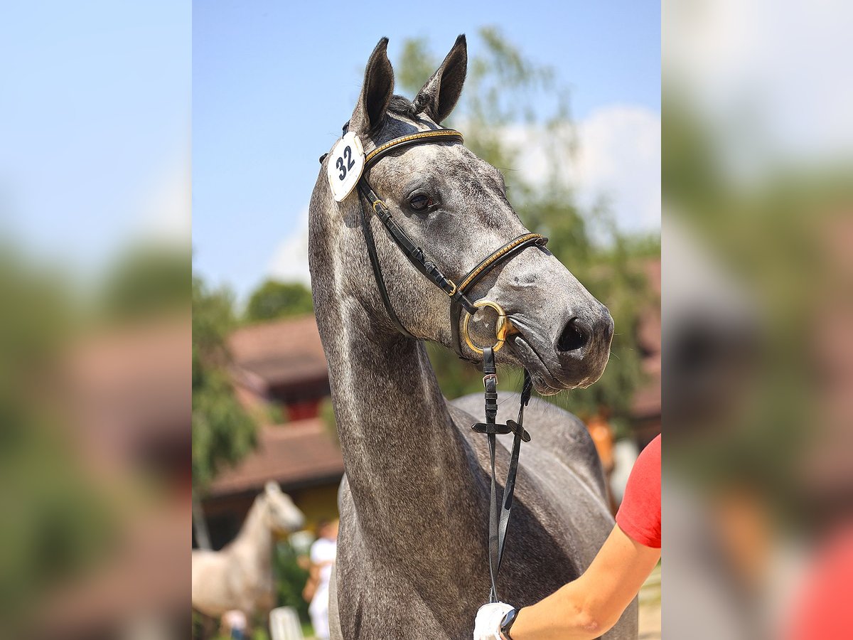
[[[212,618],[239,609],[267,620],[276,606],[273,535],[298,531],[305,515],[278,484],[267,482],[237,537],[221,551],[193,551],[193,608]]]

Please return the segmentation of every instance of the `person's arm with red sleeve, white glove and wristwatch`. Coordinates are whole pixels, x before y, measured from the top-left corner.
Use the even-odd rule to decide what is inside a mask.
[[[474,640],[593,640],[608,631],[660,559],[660,436],[631,469],[616,525],[589,568],[530,607],[479,608]]]

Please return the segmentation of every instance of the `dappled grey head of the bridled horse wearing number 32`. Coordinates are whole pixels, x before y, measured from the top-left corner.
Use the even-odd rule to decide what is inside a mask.
[[[460,36],[409,102],[394,95],[386,46],[383,38],[368,60],[348,125],[365,153],[398,137],[441,129],[467,73],[467,45]],[[311,204],[311,273],[321,285],[315,286],[316,304],[322,305],[327,296],[345,295],[356,302],[358,312],[368,314],[376,335],[393,339],[397,335],[393,318],[369,273],[360,228],[361,207],[370,212],[370,203],[363,201],[358,189],[339,203],[333,201],[328,183],[324,184],[326,169],[324,164]],[[364,177],[397,224],[454,282],[461,282],[485,256],[528,232],[508,200],[501,172],[458,141],[400,146],[368,166]],[[458,332],[451,323],[461,324],[465,314],[451,317],[446,292],[415,273],[375,216],[371,218],[380,270],[399,322],[411,335],[456,348]],[[336,265],[336,276],[323,280],[330,264]],[[586,387],[603,373],[612,317],[545,247],[516,253],[491,269],[467,295],[470,300],[492,300],[506,311],[512,329],[499,361],[528,369],[539,393]],[[480,336],[479,344],[494,342],[494,317],[489,312],[477,312],[470,329],[471,335]],[[479,354],[466,344],[461,345],[461,354],[479,361]]]

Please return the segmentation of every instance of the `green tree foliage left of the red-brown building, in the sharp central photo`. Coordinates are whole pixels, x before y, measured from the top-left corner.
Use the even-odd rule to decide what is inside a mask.
[[[193,278],[193,488],[204,492],[223,467],[256,445],[256,423],[235,397],[227,337],[233,299]]]

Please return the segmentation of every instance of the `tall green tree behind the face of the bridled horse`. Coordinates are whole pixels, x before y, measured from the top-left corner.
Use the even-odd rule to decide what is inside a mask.
[[[572,185],[559,172],[577,147],[568,91],[552,68],[525,58],[495,28],[485,27],[478,36],[481,53],[469,58],[465,90],[448,124],[460,127],[467,147],[502,170],[519,218],[548,236],[548,247],[610,309],[616,323],[610,364],[601,381],[573,391],[564,402],[581,416],[605,406],[614,422],[624,424],[633,393],[643,381],[636,327],[641,311],[659,302],[642,269],[645,260],[659,257],[659,236],[625,234],[604,205],[591,211],[577,207]],[[397,71],[399,86],[414,96],[438,61],[426,40],[407,41]],[[518,171],[523,143],[507,136],[518,127],[541,141],[547,156],[548,172],[536,181]],[[473,366],[460,366],[452,353],[435,346],[430,357],[449,397],[482,390]],[[519,374],[516,377],[520,380]]]

